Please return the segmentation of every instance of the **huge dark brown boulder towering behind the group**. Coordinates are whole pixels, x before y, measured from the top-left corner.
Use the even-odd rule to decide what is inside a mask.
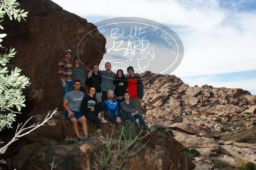
[[[30,78],[31,89],[26,94],[23,113],[61,108],[58,62],[64,59],[65,49],[71,49],[73,58],[79,55],[84,66],[91,69],[103,58],[106,39],[95,25],[50,0],[20,1],[19,7],[28,11],[27,21],[6,18],[1,25],[7,34],[2,45],[17,51],[10,64]],[[83,37],[89,32],[93,36],[88,35],[84,44]]]

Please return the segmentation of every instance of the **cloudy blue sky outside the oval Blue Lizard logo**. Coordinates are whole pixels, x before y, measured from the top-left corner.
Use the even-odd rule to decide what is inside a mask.
[[[53,2],[91,23],[141,17],[166,25],[184,46],[181,64],[169,74],[190,86],[242,88],[256,95],[255,0]]]

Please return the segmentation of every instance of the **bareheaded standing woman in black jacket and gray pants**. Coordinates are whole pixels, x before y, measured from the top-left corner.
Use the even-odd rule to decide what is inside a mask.
[[[88,77],[86,78],[86,84],[89,84],[90,87],[96,88],[96,99],[99,103],[100,95],[101,95],[101,74],[99,71],[99,66],[94,64],[92,66],[93,71],[90,71]]]

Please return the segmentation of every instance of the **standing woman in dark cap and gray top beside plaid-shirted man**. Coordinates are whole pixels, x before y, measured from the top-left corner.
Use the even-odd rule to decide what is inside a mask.
[[[79,56],[75,56],[74,58],[74,67],[72,70],[72,84],[74,84],[74,80],[81,81],[80,91],[85,94],[85,80],[86,80],[86,72],[84,67],[81,66],[81,60]]]

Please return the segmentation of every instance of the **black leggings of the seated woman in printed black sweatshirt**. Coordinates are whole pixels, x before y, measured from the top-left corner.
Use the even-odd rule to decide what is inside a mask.
[[[91,121],[92,123],[96,124],[96,129],[101,129],[101,120],[98,118],[98,114],[100,111],[104,111],[104,103],[99,102],[95,105],[94,111],[85,113],[85,117],[87,120]]]

